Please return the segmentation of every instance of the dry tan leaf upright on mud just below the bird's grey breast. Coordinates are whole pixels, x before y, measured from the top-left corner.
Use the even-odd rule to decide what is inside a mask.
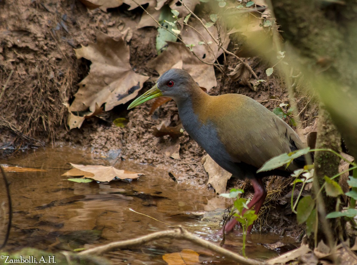
[[[221,168],[208,154],[202,158],[201,162],[208,173],[207,184],[211,184],[216,193],[225,193],[227,180],[232,177],[232,174]]]

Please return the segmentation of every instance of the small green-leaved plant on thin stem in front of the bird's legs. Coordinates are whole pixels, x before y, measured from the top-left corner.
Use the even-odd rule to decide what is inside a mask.
[[[255,214],[254,210],[249,210],[247,207],[247,199],[238,198],[240,194],[244,191],[242,189],[231,189],[229,193],[220,194],[221,197],[235,199],[233,202],[233,209],[231,210],[230,215],[232,218],[235,218],[242,227],[243,232],[243,246],[242,246],[242,254],[245,255],[245,246],[246,246],[246,237],[247,237],[247,228],[254,223],[254,221],[258,218]],[[243,213],[243,210],[247,209]]]

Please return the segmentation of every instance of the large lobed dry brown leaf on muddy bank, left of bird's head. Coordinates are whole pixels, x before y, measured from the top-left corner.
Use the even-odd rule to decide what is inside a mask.
[[[89,75],[79,83],[75,100],[69,107],[69,127],[80,127],[84,117],[73,113],[87,111],[90,116],[104,105],[104,111],[124,104],[136,97],[149,78],[135,73],[129,63],[129,46],[123,39],[113,40],[97,31],[97,42],[75,49],[77,58],[92,61]]]

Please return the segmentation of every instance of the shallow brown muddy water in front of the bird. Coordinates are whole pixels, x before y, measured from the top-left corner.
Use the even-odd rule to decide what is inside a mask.
[[[176,225],[182,225],[201,238],[210,239],[220,230],[221,214],[216,214],[216,218],[209,216],[214,216],[212,211],[215,208],[224,209],[228,205],[225,199],[217,198],[207,188],[176,183],[163,169],[133,161],[117,161],[110,154],[100,156],[69,147],[40,148],[21,157],[0,160],[0,163],[32,169],[22,170],[24,172],[16,169],[12,170],[16,172],[6,173],[13,208],[6,251],[27,246],[49,251],[89,248],[111,241],[133,239]],[[69,163],[115,164],[116,168],[145,175],[132,181],[75,183],[61,176],[72,168]],[[1,188],[0,203],[4,205],[4,202],[6,193]],[[202,218],[207,211],[210,214]],[[5,231],[6,218],[3,213],[0,219],[0,239]],[[247,236],[246,254],[254,259],[277,256],[277,251],[263,245],[276,241],[294,244],[292,238],[252,233]],[[225,247],[241,253],[242,237],[239,232],[227,236]],[[180,252],[182,249],[196,251],[200,254],[202,264],[230,264],[229,260],[187,241],[169,239],[152,241],[130,250],[112,251],[105,256],[114,264],[149,264],[148,261],[152,264],[166,264],[162,255]]]

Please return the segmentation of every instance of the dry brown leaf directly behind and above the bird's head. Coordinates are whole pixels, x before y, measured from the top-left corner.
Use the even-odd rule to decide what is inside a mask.
[[[186,70],[201,87],[209,91],[217,85],[215,70],[198,60],[183,43],[168,42],[169,47],[151,61],[150,66],[160,75],[171,68]]]

